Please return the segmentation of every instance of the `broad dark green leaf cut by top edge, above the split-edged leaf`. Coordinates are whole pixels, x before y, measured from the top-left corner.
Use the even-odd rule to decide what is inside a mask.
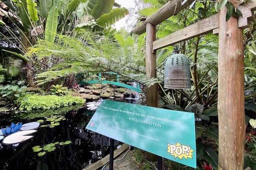
[[[92,11],[89,10],[89,14],[91,14],[95,19],[98,19],[101,15],[110,13],[114,3],[115,0],[89,0],[88,8],[91,9],[93,7]]]

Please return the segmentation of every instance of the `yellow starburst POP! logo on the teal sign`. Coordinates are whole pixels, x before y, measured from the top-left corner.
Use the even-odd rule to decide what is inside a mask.
[[[187,158],[192,158],[192,155],[193,155],[193,149],[191,149],[191,147],[189,146],[186,146],[186,145],[181,145],[179,142],[177,142],[176,144],[174,145],[170,145],[169,143],[168,144],[168,153],[170,153],[171,155],[175,156],[175,159],[176,157],[179,157],[180,159],[182,159],[183,157],[185,159]]]

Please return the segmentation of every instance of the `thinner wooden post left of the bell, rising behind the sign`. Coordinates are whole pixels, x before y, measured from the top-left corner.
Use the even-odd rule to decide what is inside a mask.
[[[153,51],[153,41],[156,40],[156,27],[151,23],[146,24],[146,75],[156,78],[156,52]],[[158,106],[158,84],[147,87],[147,106]]]

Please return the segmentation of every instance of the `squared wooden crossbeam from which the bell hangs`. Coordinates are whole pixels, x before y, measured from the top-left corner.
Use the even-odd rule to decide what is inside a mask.
[[[253,10],[256,10],[256,0],[249,0],[243,5],[239,5],[239,10],[242,12],[243,17],[238,19],[239,28],[248,28],[250,26],[250,20],[254,18]],[[178,30],[170,35],[167,35],[161,39],[153,41],[153,52],[155,50],[179,43],[184,40],[188,40],[197,36],[201,36],[207,33],[213,32],[218,34],[218,14],[212,15],[188,27]],[[145,46],[141,48],[145,51]]]

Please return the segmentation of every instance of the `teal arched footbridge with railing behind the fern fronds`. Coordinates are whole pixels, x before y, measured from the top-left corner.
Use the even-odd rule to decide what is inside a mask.
[[[107,74],[116,74],[116,82],[113,82],[113,81],[108,81],[108,80],[103,80],[101,81],[101,73],[99,73],[99,77],[98,77],[98,80],[91,80],[91,81],[88,81],[88,82],[80,82],[78,84],[93,84],[93,83],[107,83],[107,84],[113,84],[113,85],[116,85],[116,86],[121,86],[121,87],[125,87],[125,88],[128,88],[128,89],[131,89],[131,90],[134,90],[134,91],[137,91],[137,92],[141,92],[142,90],[140,89],[140,84],[137,83],[137,87],[133,87],[133,86],[130,86],[130,85],[127,85],[127,84],[124,84],[124,83],[120,83],[119,82],[119,74],[117,73],[114,73],[114,72],[104,72],[104,73],[107,73]],[[81,75],[81,74],[77,74],[77,75]]]

